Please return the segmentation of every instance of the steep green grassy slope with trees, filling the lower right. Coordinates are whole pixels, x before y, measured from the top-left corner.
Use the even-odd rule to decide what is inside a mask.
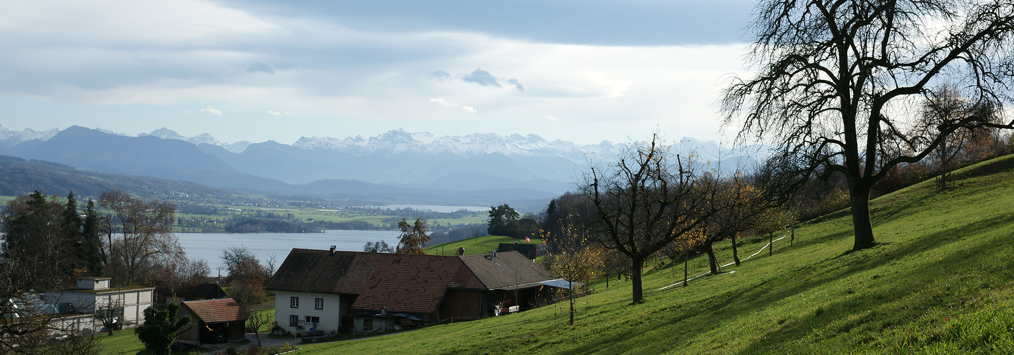
[[[652,270],[644,303],[631,304],[629,282],[598,285],[580,299],[575,327],[551,305],[300,354],[1014,353],[1014,156],[955,175],[952,190],[934,193],[926,182],[873,201],[882,242],[873,248],[848,252],[851,217],[841,211],[804,224],[774,257],[687,288],[659,290],[681,278],[681,266]],[[706,260],[692,268],[707,271]]]

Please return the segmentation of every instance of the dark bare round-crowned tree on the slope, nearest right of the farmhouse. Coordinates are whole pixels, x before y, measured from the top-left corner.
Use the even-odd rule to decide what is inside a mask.
[[[631,260],[632,297],[644,299],[645,261],[693,235],[714,214],[714,180],[702,179],[693,156],[672,154],[657,134],[636,142],[610,164],[592,163],[582,194],[594,205],[598,241]]]

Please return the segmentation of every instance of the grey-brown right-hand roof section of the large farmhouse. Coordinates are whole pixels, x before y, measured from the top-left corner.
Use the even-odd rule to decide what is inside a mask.
[[[521,288],[519,286],[530,286],[557,279],[517,252],[497,253],[496,258],[490,254],[458,258],[461,258],[468,269],[483,281],[486,288],[491,290]]]

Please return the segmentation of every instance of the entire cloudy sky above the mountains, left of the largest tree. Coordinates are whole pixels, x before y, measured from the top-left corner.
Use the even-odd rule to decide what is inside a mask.
[[[721,139],[745,0],[8,0],[0,125]]]

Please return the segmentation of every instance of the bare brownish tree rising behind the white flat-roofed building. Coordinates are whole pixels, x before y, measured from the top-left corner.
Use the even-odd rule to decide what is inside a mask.
[[[183,252],[172,234],[172,203],[145,202],[117,190],[102,193],[98,205],[113,211],[107,234],[112,268],[106,270],[117,284],[138,284],[141,269],[154,259]]]

